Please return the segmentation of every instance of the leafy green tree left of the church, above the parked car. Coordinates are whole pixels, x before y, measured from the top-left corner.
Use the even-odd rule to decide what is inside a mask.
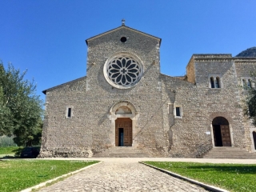
[[[42,101],[25,75],[12,64],[5,69],[0,61],[0,135],[14,135],[18,146],[30,145],[42,128]]]

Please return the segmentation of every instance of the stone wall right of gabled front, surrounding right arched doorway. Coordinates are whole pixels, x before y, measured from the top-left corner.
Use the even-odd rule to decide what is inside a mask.
[[[190,61],[191,62],[191,61]],[[212,121],[224,117],[230,123],[234,146],[247,148],[239,88],[234,62],[223,59],[194,59],[195,82],[162,76],[163,101],[182,106],[182,118],[163,111],[165,129],[170,125],[169,153],[172,157],[200,157],[213,147],[210,132]],[[211,75],[221,78],[222,88],[210,88]],[[170,110],[169,110],[170,111]]]

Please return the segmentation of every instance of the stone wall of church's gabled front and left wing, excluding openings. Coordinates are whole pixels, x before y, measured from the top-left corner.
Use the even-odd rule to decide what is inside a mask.
[[[120,42],[121,37],[127,42]],[[132,30],[120,29],[88,41],[87,76],[81,90],[70,89],[70,84],[47,90],[46,123],[44,127],[44,156],[85,156],[87,151],[98,153],[114,146],[110,135],[110,108],[127,101],[139,111],[138,146],[166,154],[162,126],[161,79],[159,78],[159,40]],[[110,86],[103,76],[106,59],[120,52],[136,54],[144,65],[144,74],[138,85],[119,90]],[[94,62],[94,64],[92,64]],[[66,109],[72,108],[72,118],[66,118]],[[82,150],[84,153],[77,154]],[[50,152],[49,152],[50,151]],[[43,155],[42,155],[43,156]]]

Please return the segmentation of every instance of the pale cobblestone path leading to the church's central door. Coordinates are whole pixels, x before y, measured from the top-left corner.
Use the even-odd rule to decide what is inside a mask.
[[[138,162],[102,162],[42,188],[46,191],[206,191]]]

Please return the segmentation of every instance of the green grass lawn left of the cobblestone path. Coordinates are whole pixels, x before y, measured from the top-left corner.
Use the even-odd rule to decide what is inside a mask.
[[[0,161],[0,191],[20,191],[97,161],[4,160]]]

